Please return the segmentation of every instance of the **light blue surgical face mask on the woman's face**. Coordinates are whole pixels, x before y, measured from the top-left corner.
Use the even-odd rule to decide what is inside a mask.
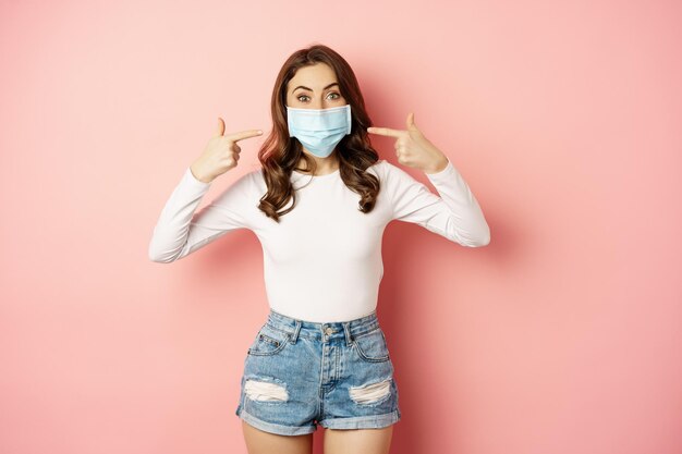
[[[287,106],[289,135],[313,155],[326,158],[343,136],[351,134],[351,105],[329,109],[297,109]]]

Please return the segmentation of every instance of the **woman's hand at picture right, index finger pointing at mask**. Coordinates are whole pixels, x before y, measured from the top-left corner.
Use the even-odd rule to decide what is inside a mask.
[[[370,134],[395,137],[398,162],[413,167],[425,173],[438,173],[448,165],[448,157],[431,144],[414,124],[414,113],[407,114],[407,130],[390,127],[368,127]]]

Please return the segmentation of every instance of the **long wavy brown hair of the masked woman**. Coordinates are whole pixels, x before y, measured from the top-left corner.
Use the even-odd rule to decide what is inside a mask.
[[[277,222],[280,216],[293,210],[296,204],[296,193],[290,180],[292,170],[302,170],[296,164],[304,159],[306,169],[315,173],[315,160],[303,152],[299,139],[289,136],[287,85],[299,69],[316,63],[331,66],[339,82],[339,90],[351,106],[351,133],[339,142],[334,151],[339,158],[341,180],[361,196],[358,209],[365,213],[374,209],[380,189],[379,180],[366,172],[369,165],[379,160],[379,155],[369,143],[367,127],[373,123],[365,111],[365,100],[355,74],[343,57],[327,46],[316,44],[292,53],[277,75],[270,103],[272,131],[258,151],[263,176],[268,187],[260,198],[258,209]],[[292,206],[281,210],[290,199],[293,199]]]

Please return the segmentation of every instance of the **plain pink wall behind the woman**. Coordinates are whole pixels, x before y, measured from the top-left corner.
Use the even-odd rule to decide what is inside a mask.
[[[269,131],[277,71],[313,42],[376,125],[415,112],[491,228],[474,249],[386,231],[391,452],[682,452],[681,20],[650,0],[3,1],[0,452],[246,452],[260,245],[171,265],[147,246],[216,118]]]

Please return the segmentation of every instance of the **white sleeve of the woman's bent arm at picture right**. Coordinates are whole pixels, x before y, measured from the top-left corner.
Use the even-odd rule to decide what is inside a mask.
[[[448,159],[437,173],[425,173],[437,196],[404,170],[385,161],[385,185],[393,218],[413,222],[462,246],[480,247],[490,243],[490,229],[468,185]]]

